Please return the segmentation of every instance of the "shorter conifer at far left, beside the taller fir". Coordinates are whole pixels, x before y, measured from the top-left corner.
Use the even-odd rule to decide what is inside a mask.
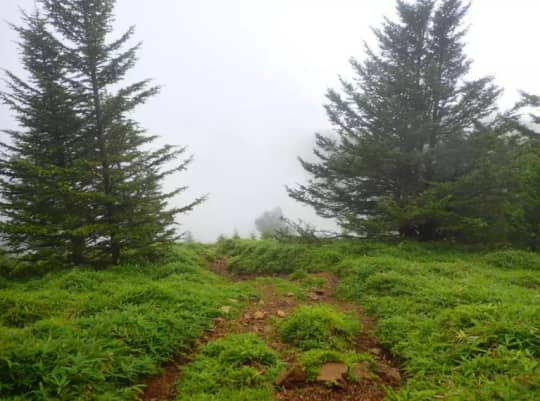
[[[7,72],[3,101],[20,130],[6,131],[0,158],[0,199],[7,245],[26,257],[80,263],[84,257],[90,177],[80,160],[81,121],[65,81],[62,45],[38,13],[23,15],[20,36],[29,80]]]

